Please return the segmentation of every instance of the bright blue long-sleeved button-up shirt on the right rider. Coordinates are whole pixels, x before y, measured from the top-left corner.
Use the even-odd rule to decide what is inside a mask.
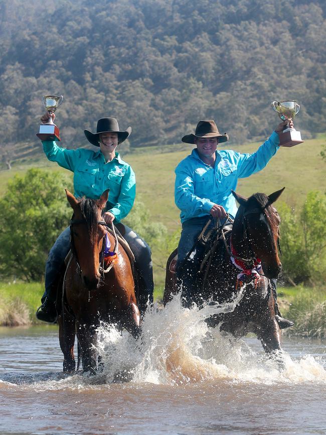
[[[236,189],[238,178],[263,169],[278,148],[279,137],[273,132],[252,154],[216,151],[214,168],[204,163],[194,149],[175,170],[175,201],[181,209],[181,222],[209,214],[214,204],[222,205],[234,217],[237,205],[231,189]]]

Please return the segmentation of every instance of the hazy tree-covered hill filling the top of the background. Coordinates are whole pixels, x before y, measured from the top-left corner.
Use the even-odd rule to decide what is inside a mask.
[[[67,147],[104,116],[132,126],[132,147],[179,143],[200,119],[244,143],[282,99],[307,138],[326,126],[325,15],[324,0],[2,0],[1,147],[37,144],[48,93],[65,97]]]

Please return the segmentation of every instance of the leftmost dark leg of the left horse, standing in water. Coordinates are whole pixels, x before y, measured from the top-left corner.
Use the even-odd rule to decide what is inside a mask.
[[[73,373],[76,368],[74,356],[75,318],[65,313],[64,316],[58,317],[58,323],[60,348],[64,356],[63,372]]]

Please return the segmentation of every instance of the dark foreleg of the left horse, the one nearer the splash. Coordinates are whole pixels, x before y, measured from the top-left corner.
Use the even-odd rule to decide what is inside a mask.
[[[96,373],[96,325],[95,320],[76,320],[77,338],[81,349],[84,372]]]

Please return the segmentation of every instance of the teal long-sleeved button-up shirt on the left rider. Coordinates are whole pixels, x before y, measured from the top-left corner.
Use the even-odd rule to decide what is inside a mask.
[[[105,163],[101,151],[84,148],[67,150],[60,148],[56,142],[42,142],[44,152],[49,160],[74,173],[74,190],[76,198],[86,196],[98,199],[104,190],[109,189],[109,199],[105,211],[115,216],[115,222],[131,210],[136,195],[136,179],[131,167],[115,153],[110,162]]]

